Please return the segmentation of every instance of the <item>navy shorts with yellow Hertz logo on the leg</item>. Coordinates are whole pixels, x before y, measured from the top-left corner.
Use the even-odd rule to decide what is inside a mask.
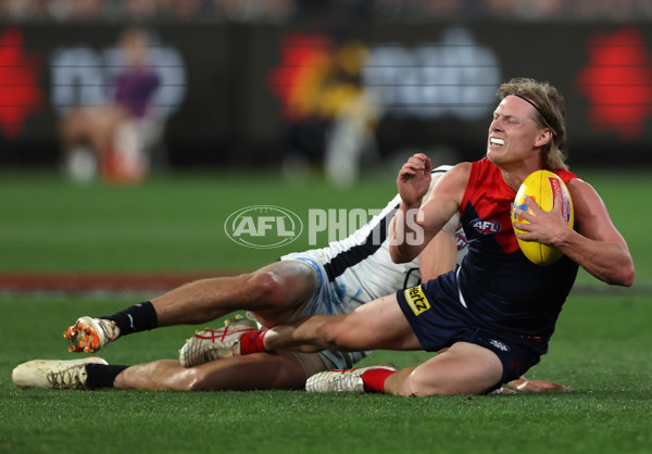
[[[399,305],[424,350],[437,352],[456,342],[491,350],[503,366],[502,382],[517,379],[539,363],[548,342],[481,326],[460,302],[455,272],[399,291]]]

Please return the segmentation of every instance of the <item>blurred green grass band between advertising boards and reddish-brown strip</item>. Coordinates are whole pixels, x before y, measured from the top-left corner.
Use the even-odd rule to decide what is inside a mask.
[[[652,282],[649,173],[580,172],[603,197],[627,239],[637,282]],[[312,249],[304,232],[278,249],[234,243],[224,222],[250,205],[277,205],[308,223],[310,209],[381,209],[396,193],[394,175],[339,190],[312,179],[288,184],[269,174],[181,174],[145,186],[79,187],[54,174],[0,174],[1,272],[156,272],[252,269],[289,252]],[[327,235],[317,235],[317,245]],[[594,282],[580,275],[579,282]]]

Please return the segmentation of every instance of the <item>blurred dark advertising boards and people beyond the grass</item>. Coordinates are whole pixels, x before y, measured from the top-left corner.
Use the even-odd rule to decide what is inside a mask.
[[[0,166],[346,185],[477,159],[516,76],[565,94],[572,164],[649,165],[651,22],[650,0],[2,0]]]

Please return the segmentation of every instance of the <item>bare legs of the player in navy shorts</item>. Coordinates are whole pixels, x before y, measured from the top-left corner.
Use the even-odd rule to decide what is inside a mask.
[[[264,346],[303,352],[421,349],[393,295],[365,304],[351,314],[313,316],[271,329],[264,337]],[[501,377],[502,363],[494,353],[459,342],[415,368],[389,375],[384,390],[399,395],[480,394],[494,388]]]

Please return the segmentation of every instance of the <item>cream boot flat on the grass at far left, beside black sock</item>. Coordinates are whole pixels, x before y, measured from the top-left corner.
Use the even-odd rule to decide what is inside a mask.
[[[71,361],[34,360],[16,366],[11,379],[21,388],[85,389],[87,364],[109,363],[97,356]]]

